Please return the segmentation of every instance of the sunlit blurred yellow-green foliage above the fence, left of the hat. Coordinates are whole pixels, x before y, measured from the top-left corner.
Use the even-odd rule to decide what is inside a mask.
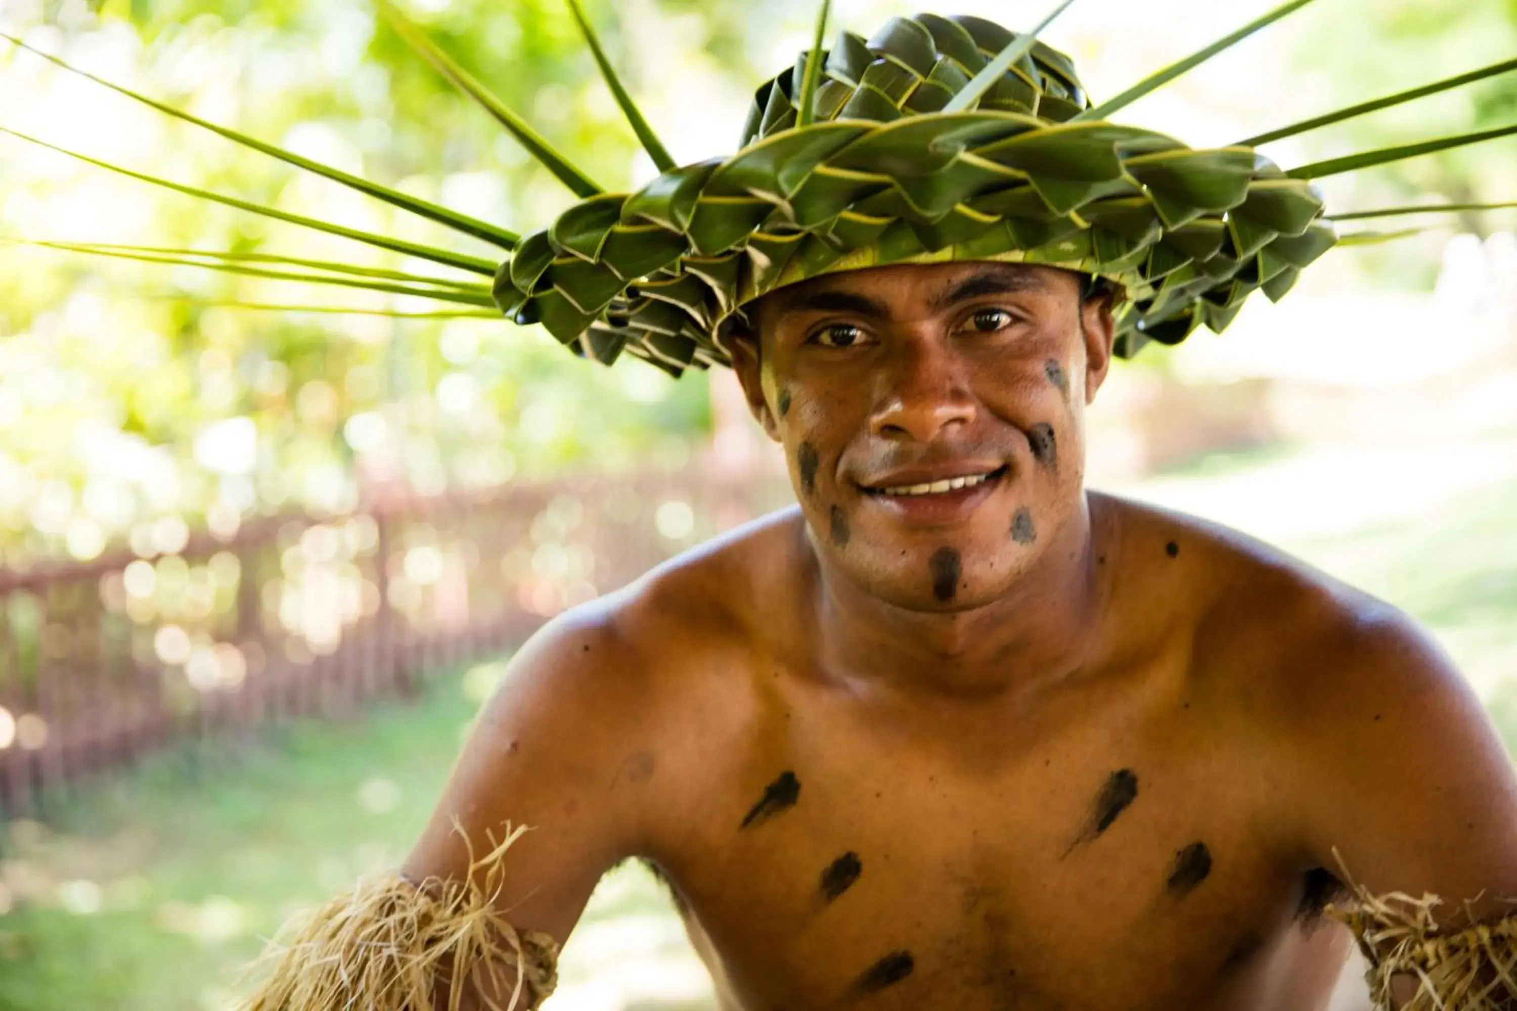
[[[690,58],[705,73],[721,65],[754,79],[743,59],[754,9],[692,0],[587,6],[634,89],[667,70],[633,58],[637,47],[622,29],[639,17],[693,30]],[[634,185],[636,138],[560,0],[413,8],[592,177]],[[30,14],[23,33],[76,64],[514,230],[546,224],[570,200],[484,111],[376,24],[369,3],[108,0],[85,8],[44,0]],[[156,114],[8,45],[0,47],[6,77],[8,91],[46,95],[64,111],[36,124],[11,115],[6,123],[65,147],[311,217],[499,255],[382,205],[352,206],[364,199],[182,124],[153,121],[112,153],[61,120],[79,109],[91,123],[121,115],[147,124]],[[416,270],[399,256],[117,180],[11,138],[0,142],[0,171],[12,180],[0,192],[5,236],[256,249]],[[111,186],[103,203],[91,186]],[[146,211],[123,212],[124,223],[93,211],[123,205]],[[640,362],[595,368],[536,327],[208,305],[435,308],[331,291],[0,244],[0,559],[24,564],[61,549],[88,558],[165,512],[350,506],[363,453],[373,476],[440,491],[564,467],[677,465],[689,440],[708,427],[699,377],[674,383]],[[144,297],[153,294],[185,299]],[[256,426],[255,464],[228,459],[247,449],[247,432],[231,429],[203,444],[197,459],[197,437],[238,417]],[[206,459],[218,453],[220,473]]]

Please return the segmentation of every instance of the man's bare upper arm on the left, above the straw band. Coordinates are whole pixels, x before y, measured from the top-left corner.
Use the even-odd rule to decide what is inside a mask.
[[[528,826],[501,867],[513,926],[567,937],[601,875],[639,844],[652,697],[605,611],[566,615],[511,659],[402,873],[460,879]],[[455,823],[463,828],[458,832]],[[479,882],[482,884],[482,882]]]

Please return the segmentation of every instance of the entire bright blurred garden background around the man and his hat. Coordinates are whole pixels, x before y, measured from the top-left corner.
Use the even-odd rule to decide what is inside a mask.
[[[411,0],[608,188],[654,174],[560,0]],[[1262,0],[1083,0],[1100,100]],[[807,0],[587,3],[680,162],[730,153]],[[863,35],[913,6],[837,0]],[[1041,5],[960,0],[1009,27]],[[0,0],[0,29],[302,155],[528,232],[570,194],[363,0]],[[1517,53],[1508,0],[1318,0],[1120,118],[1220,146]],[[1517,121],[1517,76],[1267,149],[1282,165]],[[0,42],[0,126],[490,256]],[[1327,180],[1335,211],[1517,199],[1517,142]],[[1517,741],[1517,211],[1336,250],[1224,338],[1120,365],[1092,484],[1276,541],[1427,623]],[[543,618],[789,499],[730,374],[570,358],[366,290],[21,239],[429,264],[0,135],[0,1008],[215,1011],[291,911],[394,864]],[[432,271],[437,273],[437,271]],[[264,308],[255,308],[264,306]],[[269,308],[273,306],[273,308]],[[282,308],[281,308],[282,306]],[[356,312],[335,312],[335,309]],[[636,867],[551,1008],[711,1008]],[[1344,984],[1338,1005],[1367,1006]]]

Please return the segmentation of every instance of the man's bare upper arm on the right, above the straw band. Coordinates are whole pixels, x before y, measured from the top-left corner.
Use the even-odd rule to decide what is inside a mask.
[[[1444,653],[1405,615],[1356,615],[1309,661],[1291,744],[1311,856],[1374,894],[1441,896],[1438,919],[1512,912],[1517,773]]]

